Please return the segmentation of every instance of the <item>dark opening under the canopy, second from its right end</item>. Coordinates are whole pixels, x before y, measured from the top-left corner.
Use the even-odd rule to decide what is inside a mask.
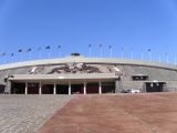
[[[98,93],[98,83],[87,83],[86,93]]]

